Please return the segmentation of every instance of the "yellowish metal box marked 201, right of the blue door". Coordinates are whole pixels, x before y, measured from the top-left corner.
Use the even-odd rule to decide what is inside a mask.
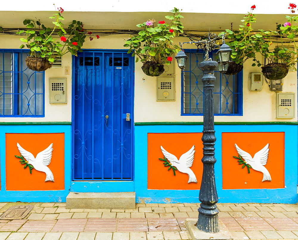
[[[156,101],[175,101],[175,77],[157,77]]]

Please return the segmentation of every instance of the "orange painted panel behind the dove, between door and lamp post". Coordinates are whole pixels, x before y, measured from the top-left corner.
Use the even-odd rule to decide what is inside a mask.
[[[148,189],[200,189],[203,172],[202,133],[148,133]],[[178,160],[182,154],[195,145],[195,157],[190,169],[194,172],[198,183],[187,183],[188,174],[176,170],[167,171],[160,146],[175,155]]]

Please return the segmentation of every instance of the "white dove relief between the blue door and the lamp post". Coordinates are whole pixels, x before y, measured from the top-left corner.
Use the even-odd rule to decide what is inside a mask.
[[[188,183],[197,183],[197,178],[195,177],[193,171],[190,169],[190,167],[193,166],[193,159],[195,156],[195,145],[193,145],[193,147],[191,147],[191,149],[188,150],[186,153],[182,154],[179,158],[179,161],[175,155],[167,152],[162,146],[160,146],[160,149],[162,149],[162,154],[165,158],[167,158],[167,160],[170,161],[170,164],[173,167],[176,167],[176,169],[179,172],[188,174]]]

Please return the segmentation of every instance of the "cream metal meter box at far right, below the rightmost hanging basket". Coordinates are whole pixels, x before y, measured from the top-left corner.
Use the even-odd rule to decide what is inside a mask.
[[[276,93],[276,118],[295,117],[295,93]]]

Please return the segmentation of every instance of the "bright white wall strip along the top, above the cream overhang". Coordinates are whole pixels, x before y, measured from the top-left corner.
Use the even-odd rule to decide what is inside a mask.
[[[38,4],[25,4],[23,0],[2,1],[1,11],[52,11],[52,1],[39,1]],[[66,11],[82,12],[167,12],[173,7],[183,9],[184,13],[246,13],[255,4],[254,13],[283,14],[288,13],[288,1],[277,0],[213,0],[181,1],[181,0],[109,0],[109,1],[80,1],[60,0],[56,7],[62,7]]]

